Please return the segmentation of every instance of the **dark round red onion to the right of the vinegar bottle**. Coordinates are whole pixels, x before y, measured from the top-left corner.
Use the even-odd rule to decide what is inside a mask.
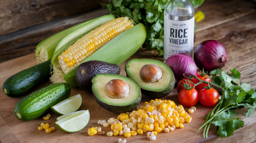
[[[212,71],[224,67],[228,58],[221,43],[215,40],[206,40],[196,47],[194,60],[199,69]]]

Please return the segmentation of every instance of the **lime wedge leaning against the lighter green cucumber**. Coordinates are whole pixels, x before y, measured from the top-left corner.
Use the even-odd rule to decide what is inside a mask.
[[[77,111],[81,105],[82,105],[82,96],[78,94],[52,106],[51,110],[58,115],[64,115],[67,113]]]

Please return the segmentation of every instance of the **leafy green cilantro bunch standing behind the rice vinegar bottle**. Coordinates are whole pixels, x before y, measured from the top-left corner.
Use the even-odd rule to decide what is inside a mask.
[[[194,7],[200,6],[204,0],[190,0]],[[164,47],[164,8],[168,0],[109,0],[109,4],[101,4],[111,14],[118,17],[129,17],[135,24],[143,23],[147,30],[144,46],[156,49],[163,55]]]

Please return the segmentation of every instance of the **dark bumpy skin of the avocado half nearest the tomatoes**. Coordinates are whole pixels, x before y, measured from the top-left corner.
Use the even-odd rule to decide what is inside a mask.
[[[126,65],[125,65],[124,70],[126,72],[126,76],[129,77],[129,75],[127,74]],[[172,92],[172,90],[174,88],[174,85],[175,85],[175,77],[174,77],[173,72],[172,72],[172,75],[173,75],[173,79],[172,79],[171,84],[167,88],[165,88],[164,90],[162,90],[162,91],[152,91],[152,90],[146,90],[146,89],[143,89],[143,88],[140,87],[141,88],[141,93],[146,95],[146,96],[149,96],[149,97],[152,97],[152,98],[157,98],[157,99],[158,98],[163,98],[163,97],[169,95]]]

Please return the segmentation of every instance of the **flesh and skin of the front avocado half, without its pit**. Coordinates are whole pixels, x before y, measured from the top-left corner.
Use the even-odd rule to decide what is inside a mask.
[[[126,82],[130,88],[124,98],[111,98],[105,92],[106,84],[114,79]],[[141,89],[132,79],[118,74],[98,74],[92,79],[92,93],[97,103],[104,109],[114,113],[126,113],[134,110],[141,102]]]

